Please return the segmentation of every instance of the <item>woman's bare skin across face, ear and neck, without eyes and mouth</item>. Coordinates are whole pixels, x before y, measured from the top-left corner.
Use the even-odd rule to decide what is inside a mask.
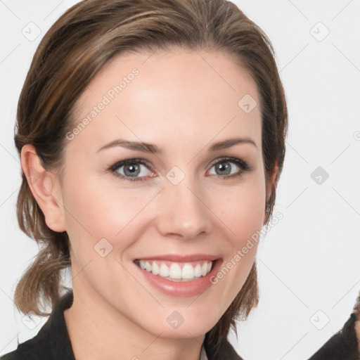
[[[117,56],[77,101],[75,126],[132,68],[139,75],[68,141],[62,179],[44,171],[31,145],[24,146],[21,162],[39,174],[29,184],[46,224],[70,237],[74,303],[64,315],[76,359],[198,360],[205,333],[243,286],[257,244],[195,297],[161,293],[132,260],[205,253],[226,264],[262,229],[277,168],[266,184],[256,84],[220,52],[174,49]],[[248,114],[238,106],[245,94],[258,104]],[[239,143],[208,150],[236,137],[248,137],[256,147]],[[162,154],[120,146],[97,152],[120,138],[153,143]],[[252,170],[224,179],[212,164],[226,156],[248,162]],[[125,181],[108,170],[133,158],[153,165],[139,165],[143,181]],[[231,174],[243,171],[233,162],[224,165]],[[185,174],[176,186],[166,177],[174,166]],[[124,175],[124,167],[119,172]],[[106,257],[94,251],[101,238],[113,246]],[[173,311],[184,318],[176,329],[167,323]]]

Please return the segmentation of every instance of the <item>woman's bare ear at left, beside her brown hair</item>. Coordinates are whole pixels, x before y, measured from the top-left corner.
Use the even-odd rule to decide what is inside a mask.
[[[21,166],[32,195],[44,213],[46,225],[53,231],[66,231],[58,175],[42,167],[36,149],[31,144],[25,144],[21,149]]]

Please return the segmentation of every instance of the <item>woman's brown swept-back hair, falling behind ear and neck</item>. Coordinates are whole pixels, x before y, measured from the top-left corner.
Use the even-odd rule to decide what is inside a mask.
[[[115,55],[126,51],[209,49],[229,54],[257,84],[262,112],[262,149],[266,184],[278,162],[278,174],[266,203],[268,224],[283,168],[288,113],[274,49],[266,34],[226,0],[84,0],[68,9],[41,40],[18,101],[15,146],[36,150],[44,169],[62,174],[65,134],[75,123],[74,105],[86,85]],[[240,99],[239,99],[240,100]],[[49,313],[60,297],[61,271],[70,266],[69,238],[46,226],[44,214],[23,172],[17,202],[20,229],[41,245],[15,289],[20,311]],[[255,263],[218,323],[205,337],[214,351],[236,331],[236,319],[246,319],[258,302]],[[44,305],[43,305],[44,306]]]

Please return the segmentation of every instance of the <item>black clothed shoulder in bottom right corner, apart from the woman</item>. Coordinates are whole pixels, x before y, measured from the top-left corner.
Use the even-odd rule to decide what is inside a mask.
[[[351,314],[342,330],[333,335],[309,360],[358,360],[355,314]]]

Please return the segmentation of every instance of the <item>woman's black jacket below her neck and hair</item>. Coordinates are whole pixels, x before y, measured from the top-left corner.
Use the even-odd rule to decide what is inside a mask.
[[[39,333],[18,344],[13,352],[0,356],[0,360],[75,360],[64,317],[64,310],[71,307],[73,299],[72,290],[63,295]],[[206,346],[205,350],[209,360],[243,360],[229,342],[220,357],[212,356]]]

